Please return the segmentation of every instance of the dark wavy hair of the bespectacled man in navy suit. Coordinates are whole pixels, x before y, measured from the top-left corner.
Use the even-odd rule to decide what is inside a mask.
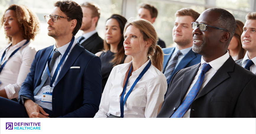
[[[70,18],[70,19],[68,19],[69,21],[71,21],[72,19],[76,19],[76,21],[77,21],[76,27],[74,28],[74,30],[72,32],[73,36],[75,36],[82,25],[83,11],[81,9],[81,6],[79,4],[77,4],[76,2],[69,1],[69,0],[57,1],[54,4],[54,6],[59,7],[61,9],[61,11],[64,14],[66,14],[67,17]]]

